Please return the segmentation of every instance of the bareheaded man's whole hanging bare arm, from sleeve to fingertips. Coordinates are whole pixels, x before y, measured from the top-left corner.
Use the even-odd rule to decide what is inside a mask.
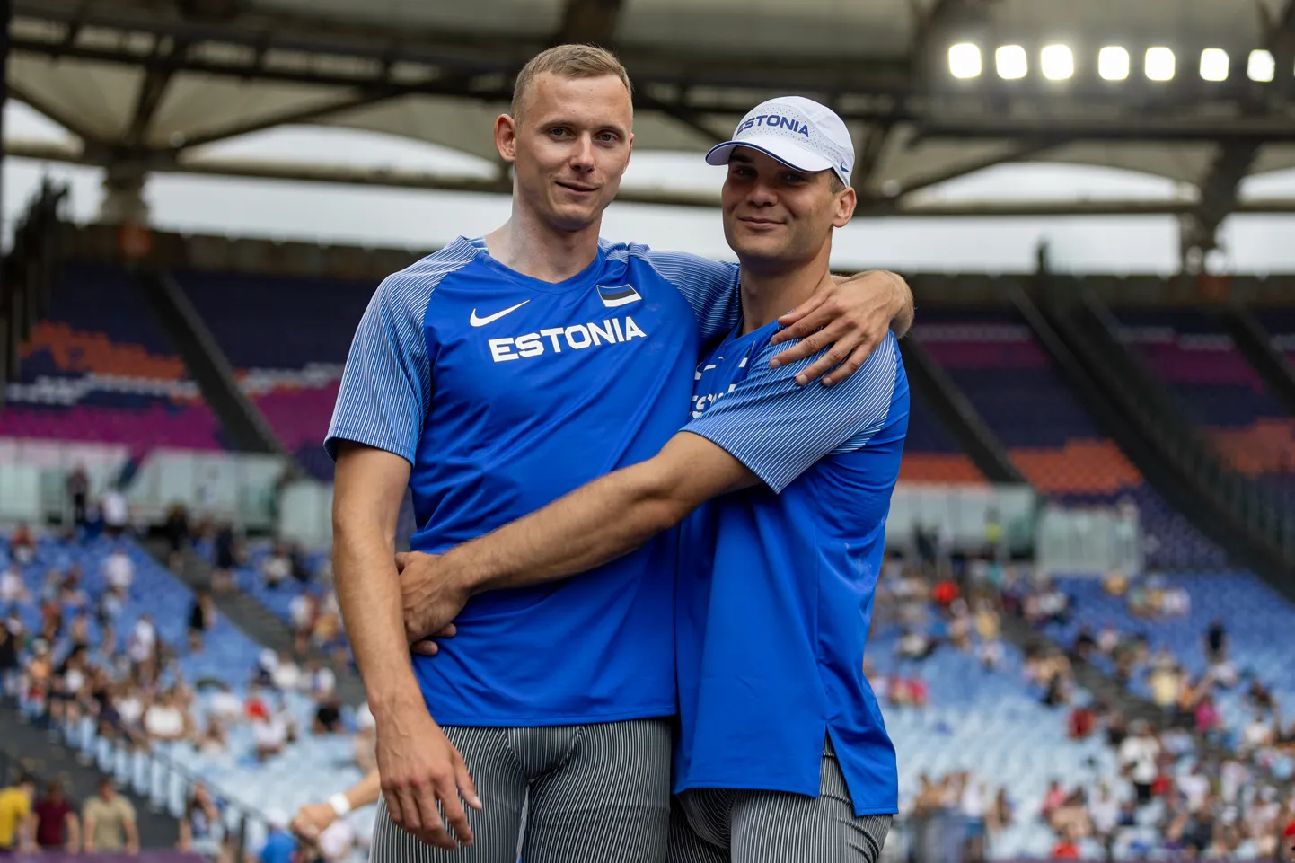
[[[391,819],[425,842],[455,850],[471,829],[460,796],[480,807],[462,755],[427,713],[409,662],[395,568],[395,529],[409,482],[403,457],[343,444],[333,492],[333,571],[346,634],[377,723],[377,758]]]

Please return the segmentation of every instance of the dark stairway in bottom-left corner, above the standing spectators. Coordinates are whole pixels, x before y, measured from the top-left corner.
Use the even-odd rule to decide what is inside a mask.
[[[93,796],[106,775],[91,766],[88,755],[74,752],[57,731],[38,728],[9,705],[0,706],[0,753],[10,765],[39,779],[41,787],[56,779],[61,781],[63,792],[76,805]],[[141,849],[175,847],[180,834],[175,818],[128,785],[119,783],[118,792],[135,806]]]

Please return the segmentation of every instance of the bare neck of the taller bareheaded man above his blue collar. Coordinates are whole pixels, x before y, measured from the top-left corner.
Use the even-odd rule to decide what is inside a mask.
[[[563,281],[576,275],[598,254],[600,215],[578,231],[554,228],[513,198],[513,214],[486,235],[486,247],[509,270],[540,281]]]

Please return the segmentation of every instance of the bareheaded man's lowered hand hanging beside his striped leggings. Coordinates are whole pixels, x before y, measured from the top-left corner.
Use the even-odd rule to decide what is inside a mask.
[[[391,820],[447,851],[456,850],[458,842],[471,845],[473,831],[460,797],[473,809],[479,810],[482,803],[464,757],[427,708],[421,701],[409,701],[379,718],[377,730],[378,774]],[[453,836],[436,811],[438,803]]]

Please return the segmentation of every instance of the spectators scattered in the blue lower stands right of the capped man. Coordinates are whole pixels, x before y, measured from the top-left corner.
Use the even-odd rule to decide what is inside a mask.
[[[1129,621],[1147,627],[1181,622],[1193,608],[1182,583],[1160,575],[1131,578],[1112,573],[1102,588],[1127,605]],[[1208,603],[1198,596],[1198,603]],[[1274,601],[1281,603],[1276,596]],[[1211,619],[1199,635],[1203,670],[1188,673],[1185,657],[1153,647],[1146,631],[1107,622],[1093,628],[1080,599],[1066,586],[1035,578],[1023,562],[995,549],[960,556],[918,538],[905,557],[888,558],[877,591],[878,626],[903,627],[892,657],[873,654],[865,674],[878,700],[891,710],[923,710],[939,704],[923,680],[923,665],[939,652],[976,657],[985,670],[1010,674],[1004,662],[1002,627],[1015,618],[1039,635],[1079,626],[1070,643],[1032,639],[1019,665],[1022,683],[1053,709],[1076,741],[1101,740],[1119,775],[1057,776],[1037,811],[1023,809],[1015,789],[995,776],[966,770],[922,775],[901,801],[904,815],[954,814],[965,823],[965,859],[991,855],[993,840],[1023,819],[1039,819],[1054,834],[1054,859],[1295,859],[1295,722],[1282,724],[1279,700],[1230,654],[1228,625]],[[1287,616],[1295,609],[1282,609]],[[1295,626],[1291,626],[1295,640]],[[1295,656],[1292,653],[1291,656]],[[888,660],[888,661],[887,661]],[[886,663],[886,673],[878,665]],[[1096,700],[1076,682],[1084,666],[1098,669],[1125,695],[1150,701],[1146,718],[1131,719],[1120,705]],[[1141,685],[1134,685],[1141,684]],[[1252,718],[1229,732],[1213,692],[1239,693]],[[1138,701],[1131,701],[1133,708]],[[1125,705],[1125,708],[1128,706]],[[1140,714],[1141,717],[1141,714]],[[1153,722],[1149,722],[1151,719]]]

